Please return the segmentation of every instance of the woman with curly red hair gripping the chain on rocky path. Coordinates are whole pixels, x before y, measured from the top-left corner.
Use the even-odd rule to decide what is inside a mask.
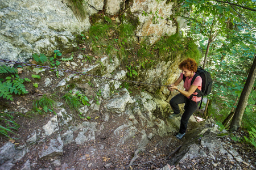
[[[185,59],[183,62],[180,63],[179,69],[182,70],[182,73],[180,73],[179,79],[177,79],[175,83],[170,84],[169,87],[167,88],[169,91],[176,90],[180,92],[180,94],[174,96],[170,100],[170,105],[174,111],[174,113],[169,116],[170,119],[180,116],[179,104],[185,103],[185,106],[184,106],[185,111],[180,120],[180,130],[179,130],[179,133],[176,135],[176,138],[181,139],[185,135],[185,131],[187,130],[189,117],[191,117],[193,112],[196,111],[197,105],[201,100],[201,97],[196,97],[196,96],[193,96],[192,94],[194,95],[197,94],[197,92],[195,92],[196,88],[199,88],[199,90],[201,90],[202,78],[200,76],[197,76],[195,81],[191,85],[191,80],[197,71],[197,63],[195,59],[192,59],[192,58]],[[177,85],[180,84],[181,80],[183,80],[183,76],[185,76],[185,81],[184,81],[185,91],[177,88]]]

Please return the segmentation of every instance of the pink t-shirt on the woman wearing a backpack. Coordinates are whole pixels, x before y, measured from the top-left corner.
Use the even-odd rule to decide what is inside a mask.
[[[196,74],[196,73],[194,73],[193,76],[195,76],[195,74]],[[182,73],[180,73],[180,76],[181,76],[181,78],[183,78],[183,74],[182,74]],[[190,78],[190,79],[189,79],[188,77],[186,77],[185,82],[184,82],[185,91],[188,91],[189,88],[191,87],[191,81],[192,81],[192,79],[193,79],[193,77]],[[197,88],[198,88],[199,90],[201,90],[201,88],[202,88],[202,78],[201,78],[201,76],[197,76],[197,77],[196,77],[196,79],[195,79],[193,85],[194,85],[194,86],[198,86]],[[197,92],[194,92],[193,94],[194,94],[194,95],[197,95]],[[190,98],[190,96],[188,96],[188,99],[189,99],[189,98]],[[200,101],[200,100],[201,100],[201,97],[193,96],[191,100],[197,102],[197,101]]]

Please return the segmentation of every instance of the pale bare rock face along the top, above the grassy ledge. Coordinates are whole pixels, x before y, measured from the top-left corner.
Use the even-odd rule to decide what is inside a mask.
[[[175,2],[152,0],[85,0],[81,1],[81,15],[75,15],[69,0],[28,1],[10,0],[0,3],[0,58],[27,61],[34,53],[53,55],[54,50],[71,52],[76,49],[75,35],[90,28],[90,16],[104,10],[105,15],[119,13],[138,18],[136,36],[151,43],[163,35],[179,31],[172,8]],[[117,18],[117,17],[115,17]],[[121,20],[121,18],[117,18]],[[176,22],[177,20],[177,22]]]

